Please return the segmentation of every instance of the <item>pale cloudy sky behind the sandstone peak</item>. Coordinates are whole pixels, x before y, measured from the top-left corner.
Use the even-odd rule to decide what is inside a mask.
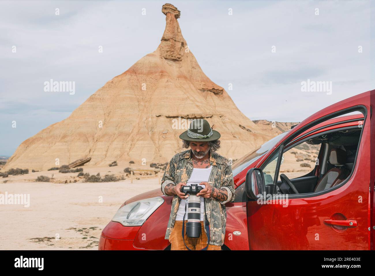
[[[0,2],[0,155],[156,50],[164,3]],[[300,122],[375,89],[374,1],[171,4],[203,72],[251,120]],[[50,79],[74,81],[75,93],[46,92]],[[308,81],[330,88],[306,91]]]

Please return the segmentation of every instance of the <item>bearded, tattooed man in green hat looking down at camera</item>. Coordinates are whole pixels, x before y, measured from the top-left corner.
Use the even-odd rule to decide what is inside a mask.
[[[172,196],[171,214],[165,233],[165,239],[171,243],[171,250],[221,250],[225,239],[226,210],[225,203],[234,201],[234,182],[231,165],[226,158],[215,151],[220,148],[220,133],[212,130],[204,119],[194,119],[187,131],[180,135],[183,147],[189,150],[175,154],[164,172],[161,190],[164,195]],[[189,183],[190,182],[190,183]],[[182,186],[199,183],[204,187],[196,196],[201,197],[201,235],[198,238],[182,238],[182,225],[186,199],[180,191]],[[207,215],[210,240],[206,220]],[[187,215],[185,216],[187,218]],[[186,246],[184,244],[186,243]]]

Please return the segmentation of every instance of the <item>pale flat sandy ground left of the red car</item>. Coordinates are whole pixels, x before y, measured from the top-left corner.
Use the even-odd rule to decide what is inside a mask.
[[[0,250],[97,250],[102,229],[121,204],[160,187],[157,176],[133,184],[130,179],[67,184],[13,181],[1,181],[0,193],[29,194],[30,207],[0,205]]]

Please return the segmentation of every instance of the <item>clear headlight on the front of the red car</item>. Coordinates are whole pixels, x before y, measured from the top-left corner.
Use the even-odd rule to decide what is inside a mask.
[[[141,226],[163,202],[159,196],[134,201],[118,209],[112,221],[124,226]]]

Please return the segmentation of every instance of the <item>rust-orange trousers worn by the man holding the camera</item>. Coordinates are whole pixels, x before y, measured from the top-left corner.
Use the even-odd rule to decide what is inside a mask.
[[[202,232],[198,238],[190,238],[186,235],[186,223],[185,220],[185,243],[191,250],[201,250],[207,245],[207,235],[204,232],[204,223],[201,221]],[[169,235],[169,242],[171,243],[171,250],[188,250],[182,240],[182,220],[176,220],[172,228],[171,234]],[[221,250],[221,246],[209,244],[207,250]]]

